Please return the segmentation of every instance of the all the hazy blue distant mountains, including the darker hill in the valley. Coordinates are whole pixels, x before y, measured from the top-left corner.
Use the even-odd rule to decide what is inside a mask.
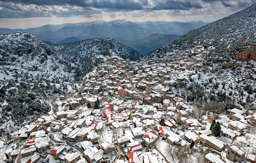
[[[178,38],[177,35],[183,35],[208,23],[210,23],[210,21],[203,20],[190,22],[131,22],[124,19],[107,22],[102,20],[75,24],[45,25],[29,29],[0,28],[0,34],[24,31],[28,34],[35,35],[40,40],[56,44],[72,43],[99,37],[113,38],[124,45],[135,48],[143,55],[146,55],[156,48],[168,45]],[[154,35],[152,38],[151,34],[161,35]],[[176,36],[170,34],[175,34]],[[152,42],[152,39],[158,38],[161,38],[161,41],[156,40],[157,44]]]

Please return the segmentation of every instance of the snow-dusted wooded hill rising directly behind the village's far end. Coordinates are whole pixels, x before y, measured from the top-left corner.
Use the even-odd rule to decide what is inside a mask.
[[[100,55],[104,50],[108,50],[110,55],[117,55],[124,59],[136,60],[142,57],[140,52],[118,43],[111,38],[96,38],[51,46],[53,46],[60,54],[65,55],[68,60],[80,65],[81,69],[83,69],[88,57],[92,55]]]

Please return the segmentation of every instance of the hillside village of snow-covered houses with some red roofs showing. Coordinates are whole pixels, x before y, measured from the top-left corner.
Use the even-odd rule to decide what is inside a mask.
[[[205,111],[179,92],[181,86],[194,82],[193,77],[198,79],[195,89],[212,92],[211,86],[202,86],[209,79],[198,75],[212,70],[203,64],[212,48],[180,49],[161,59],[139,62],[95,56],[104,64],[75,86],[76,93],[56,99],[57,110],[13,133],[5,159],[17,163],[255,163],[255,110]],[[249,95],[252,104],[253,95]]]

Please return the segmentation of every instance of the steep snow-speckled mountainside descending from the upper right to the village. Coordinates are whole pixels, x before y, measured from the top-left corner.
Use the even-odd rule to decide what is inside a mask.
[[[208,64],[229,61],[236,54],[256,44],[256,4],[228,17],[192,30],[173,41],[169,46],[153,51],[149,56],[161,57],[175,47],[195,45],[216,47],[206,56]]]

